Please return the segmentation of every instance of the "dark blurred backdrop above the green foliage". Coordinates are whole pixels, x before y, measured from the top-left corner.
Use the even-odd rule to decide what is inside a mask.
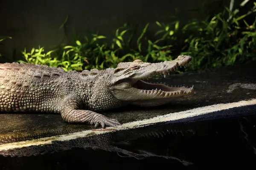
[[[241,0],[235,0],[236,5]],[[69,15],[68,36],[73,30],[99,31],[111,40],[114,31],[125,22],[143,28],[150,22],[149,31],[157,29],[155,21],[172,22],[175,15],[180,24],[192,18],[204,19],[229,6],[230,0],[0,0],[0,37],[11,36],[0,45],[5,57],[21,56],[27,48],[57,45],[64,38],[60,29]],[[234,7],[236,8],[236,6]],[[19,58],[20,59],[20,58]]]

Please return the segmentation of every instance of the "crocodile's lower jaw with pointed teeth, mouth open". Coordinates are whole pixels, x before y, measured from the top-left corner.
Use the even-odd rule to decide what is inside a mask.
[[[130,88],[113,87],[112,94],[121,101],[140,106],[157,106],[169,103],[174,97],[192,94],[194,87],[169,87],[138,80]]]

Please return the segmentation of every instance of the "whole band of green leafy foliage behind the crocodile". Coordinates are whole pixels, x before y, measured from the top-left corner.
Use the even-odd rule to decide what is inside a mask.
[[[134,26],[124,24],[116,29],[111,43],[108,43],[107,37],[99,34],[82,38],[74,35],[73,41],[58,45],[50,51],[44,51],[43,47],[32,48],[31,51],[25,49],[22,51],[25,61],[19,62],[81,71],[116,67],[119,62],[134,59],[161,62],[186,54],[193,57],[187,70],[235,65],[256,59],[256,18],[246,20],[255,14],[255,9],[256,3],[252,10],[238,15],[226,8],[210,19],[192,20],[181,28],[177,19],[172,23],[156,21],[159,30],[154,37],[148,33],[149,23],[137,36],[138,30]],[[225,17],[227,12],[229,17]],[[186,38],[181,38],[180,33]]]

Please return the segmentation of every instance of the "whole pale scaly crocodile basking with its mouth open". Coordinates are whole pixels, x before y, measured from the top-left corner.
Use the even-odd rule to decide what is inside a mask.
[[[121,125],[98,112],[125,105],[164,105],[173,97],[192,94],[193,86],[170,87],[145,80],[164,77],[187,65],[191,56],[180,55],[158,63],[120,62],[116,68],[64,71],[31,63],[0,64],[0,113],[41,112],[61,114],[65,122],[102,128]]]

